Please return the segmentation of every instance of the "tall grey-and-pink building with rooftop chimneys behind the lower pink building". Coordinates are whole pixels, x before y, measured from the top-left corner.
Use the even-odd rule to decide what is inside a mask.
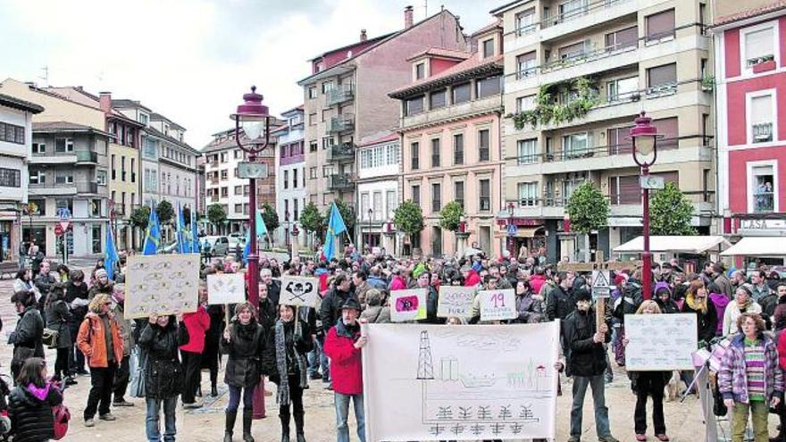
[[[310,61],[311,74],[298,81],[305,93],[305,167],[308,197],[322,211],[333,200],[355,202],[356,143],[394,127],[397,101],[387,96],[412,79],[406,58],[431,46],[467,47],[458,18],[447,10],[404,29],[330,50]]]

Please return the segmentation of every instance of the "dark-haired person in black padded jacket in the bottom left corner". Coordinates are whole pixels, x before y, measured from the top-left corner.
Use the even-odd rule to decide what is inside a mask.
[[[63,394],[46,381],[46,362],[31,357],[21,367],[17,386],[8,396],[8,418],[14,442],[46,442],[54,438],[52,407],[63,403]]]

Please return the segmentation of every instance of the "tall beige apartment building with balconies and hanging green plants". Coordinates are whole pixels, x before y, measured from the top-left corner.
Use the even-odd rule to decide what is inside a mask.
[[[491,13],[504,22],[506,113],[518,116],[503,123],[498,215],[519,228],[513,246],[587,259],[640,235],[628,134],[642,111],[664,135],[651,173],[679,185],[707,233],[715,211],[707,2],[515,1]],[[611,204],[608,228],[590,238],[563,231],[564,204],[586,180]]]

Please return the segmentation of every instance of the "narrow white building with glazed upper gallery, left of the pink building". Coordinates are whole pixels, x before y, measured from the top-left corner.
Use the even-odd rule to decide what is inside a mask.
[[[398,135],[383,132],[361,140],[356,155],[358,245],[382,246],[397,254],[397,241],[383,235],[392,226],[398,207],[401,176],[401,145]]]

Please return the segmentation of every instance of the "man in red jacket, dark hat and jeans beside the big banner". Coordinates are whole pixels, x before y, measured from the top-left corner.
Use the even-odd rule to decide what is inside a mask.
[[[330,379],[333,379],[333,394],[336,401],[336,429],[339,442],[349,442],[350,399],[355,402],[355,421],[357,421],[357,437],[365,442],[365,416],[363,408],[363,364],[361,349],[368,343],[368,338],[360,335],[360,324],[357,316],[360,304],[350,297],[341,306],[341,319],[334,327],[330,327],[325,338],[325,354],[330,358]]]

